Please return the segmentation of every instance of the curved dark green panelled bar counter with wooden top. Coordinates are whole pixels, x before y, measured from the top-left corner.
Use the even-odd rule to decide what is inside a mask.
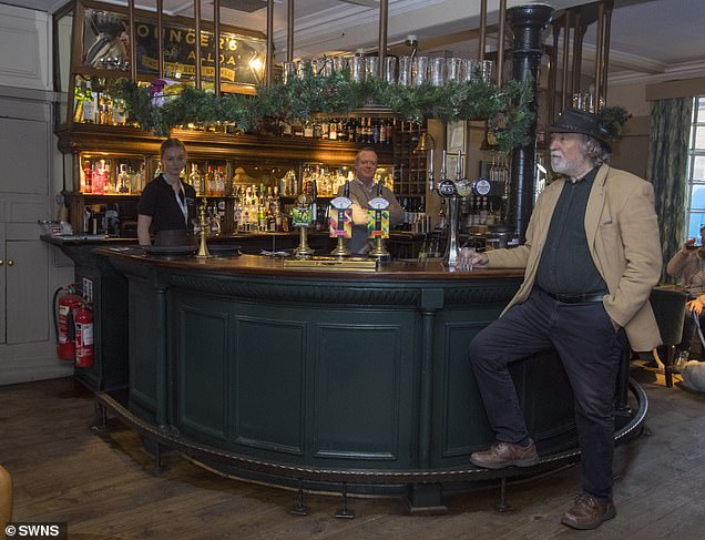
[[[545,351],[511,369],[541,463],[469,465],[493,434],[468,345],[518,289],[520,269],[295,268],[255,255],[157,258],[134,246],[96,254],[126,276],[129,306],[129,387],[99,391],[99,405],[143,435],[157,465],[171,448],[228,476],[403,496],[413,510],[579,455],[570,385]],[[643,421],[645,396],[632,390],[637,405],[625,406],[624,390],[615,439]]]

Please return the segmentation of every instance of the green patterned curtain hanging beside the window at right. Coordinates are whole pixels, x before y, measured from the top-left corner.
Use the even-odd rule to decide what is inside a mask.
[[[661,226],[661,247],[665,263],[683,243],[688,136],[693,120],[693,98],[658,100],[651,110],[646,180],[654,185],[656,215]]]

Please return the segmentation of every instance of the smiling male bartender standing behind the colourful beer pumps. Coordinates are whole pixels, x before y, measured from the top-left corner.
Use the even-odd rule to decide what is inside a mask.
[[[367,255],[372,248],[372,241],[367,237],[368,201],[377,196],[375,173],[377,172],[377,154],[371,149],[362,149],[355,156],[355,180],[350,183],[350,200],[352,201],[352,237],[348,242],[348,249],[355,255]],[[345,186],[338,190],[343,196]],[[389,201],[389,226],[403,222],[403,208],[394,192],[382,187],[381,196]]]

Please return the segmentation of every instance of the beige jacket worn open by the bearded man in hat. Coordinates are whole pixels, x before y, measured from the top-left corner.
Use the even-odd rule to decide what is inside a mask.
[[[531,293],[564,182],[552,183],[539,197],[525,244],[488,252],[492,267],[525,268],[524,281],[507,309],[524,302]],[[661,345],[647,302],[663,264],[653,186],[631,173],[602,165],[585,208],[585,234],[590,254],[610,291],[603,299],[610,317],[624,327],[634,350]]]

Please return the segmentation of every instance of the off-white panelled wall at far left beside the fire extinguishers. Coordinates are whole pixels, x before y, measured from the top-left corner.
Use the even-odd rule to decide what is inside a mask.
[[[52,90],[50,37],[51,18],[47,13],[0,4],[2,119],[8,125],[22,126],[24,135],[31,133],[33,141],[24,147],[17,133],[8,132],[11,130],[0,133],[0,144],[6,149],[0,172],[0,176],[6,176],[0,182],[0,194],[11,210],[1,217],[2,248],[19,254],[12,268],[2,267],[7,272],[2,274],[7,279],[3,286],[13,285],[0,305],[3,336],[8,329],[7,342],[0,345],[0,385],[61,377],[73,370],[71,363],[57,358],[51,308],[53,292],[73,281],[73,265],[55,247],[39,240],[37,224],[39,218],[55,217],[55,195],[63,183],[61,154],[53,135],[57,94]],[[12,155],[8,155],[9,147],[14,149]],[[33,172],[31,177],[23,179],[27,171]],[[21,275],[17,274],[19,269]],[[22,287],[28,287],[27,295]],[[23,300],[29,296],[34,298],[33,303]],[[27,332],[24,327],[16,328],[18,319],[28,320]]]

